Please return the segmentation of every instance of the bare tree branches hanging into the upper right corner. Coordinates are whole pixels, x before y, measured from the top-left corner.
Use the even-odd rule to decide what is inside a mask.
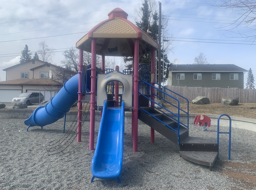
[[[211,4],[212,5],[212,4]],[[239,14],[238,19],[234,20],[231,24],[224,28],[228,31],[238,34],[239,37],[244,37],[249,40],[256,39],[256,1],[255,0],[222,0],[221,4],[212,5],[219,9],[231,9],[237,11]],[[240,32],[239,26],[244,25],[248,30]]]

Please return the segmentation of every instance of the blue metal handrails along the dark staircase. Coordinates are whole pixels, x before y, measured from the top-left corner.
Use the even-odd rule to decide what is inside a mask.
[[[156,88],[155,86],[153,86],[154,84],[159,85],[158,83],[153,83],[153,85],[151,85],[151,84],[149,84],[149,83],[147,83],[147,82],[145,82],[145,81],[140,81],[140,82],[139,82],[139,86],[140,86],[140,83],[145,83],[147,86],[150,86],[150,87],[151,87],[151,99],[148,98],[147,96],[145,96],[144,94],[142,94],[141,92],[139,92],[139,94],[141,94],[142,96],[144,96],[145,98],[147,98],[148,100],[151,101],[151,108],[157,109],[157,110],[159,110],[160,112],[162,112],[163,114],[165,114],[165,115],[167,115],[168,117],[172,118],[173,120],[177,121],[177,122],[178,122],[178,125],[177,125],[178,128],[177,128],[177,130],[175,130],[174,128],[170,127],[169,125],[166,125],[164,122],[162,122],[160,119],[154,117],[152,114],[150,114],[150,113],[148,113],[148,112],[147,112],[147,113],[148,113],[149,115],[151,115],[152,117],[154,117],[155,119],[157,119],[159,122],[161,122],[161,123],[163,123],[164,125],[166,125],[167,127],[169,127],[170,129],[172,129],[172,130],[174,130],[175,132],[177,132],[177,133],[178,133],[178,144],[180,144],[180,141],[179,141],[180,128],[179,128],[179,126],[180,126],[180,124],[181,124],[181,125],[183,125],[184,127],[186,127],[186,128],[188,129],[188,123],[189,123],[189,122],[188,122],[187,125],[185,125],[184,123],[180,122],[180,111],[182,111],[182,112],[184,112],[184,113],[187,114],[187,121],[189,121],[189,120],[188,120],[188,119],[189,119],[189,118],[188,118],[188,111],[186,112],[186,111],[184,111],[183,109],[180,109],[180,101],[179,101],[177,98],[175,98],[175,97],[173,97],[173,96],[167,94],[166,92],[162,91],[161,89],[158,89],[158,88]],[[161,85],[160,85],[160,86],[161,86]],[[163,89],[165,89],[165,90],[169,90],[169,89],[165,88],[164,86],[161,86],[161,87],[162,87]],[[156,93],[155,91],[158,91],[158,92],[160,92],[160,93]],[[169,90],[169,91],[172,92],[172,93],[175,93],[175,92],[173,92],[173,91],[171,91],[171,90]],[[173,100],[176,100],[177,103],[178,103],[178,106],[175,106],[174,104],[172,104],[172,103],[170,103],[169,101],[165,100],[164,98],[160,97],[158,94],[164,94],[165,96],[170,97],[170,98],[172,98]],[[177,94],[177,93],[175,93],[175,94]],[[179,94],[177,94],[177,95],[180,96]],[[156,96],[156,97],[158,97],[159,99],[165,101],[166,103],[168,103],[168,104],[170,104],[170,105],[176,107],[176,108],[177,108],[177,114],[175,114],[175,113],[171,112],[170,110],[168,110],[168,109],[162,107],[160,104],[156,103],[156,101],[153,101],[153,99],[152,99],[153,96]],[[186,98],[183,97],[183,96],[180,96],[180,97],[186,99]],[[186,99],[186,100],[187,100],[187,102],[188,102],[188,99]],[[161,109],[158,109],[157,107],[153,106],[153,105],[152,105],[152,102],[154,102],[154,104],[159,105],[159,107],[161,107],[162,109],[164,109],[165,111],[167,111],[167,113],[169,112],[169,114],[172,114],[174,117],[177,117],[177,119],[174,118],[172,115],[169,115],[169,114],[167,114],[166,112],[162,111]],[[141,107],[139,107],[139,108],[143,110],[143,108],[141,108]],[[145,110],[143,110],[143,111],[146,112]]]

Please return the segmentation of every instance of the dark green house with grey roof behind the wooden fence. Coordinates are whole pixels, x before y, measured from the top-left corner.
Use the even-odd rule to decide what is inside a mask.
[[[244,72],[248,71],[233,64],[171,65],[168,85],[243,89]]]

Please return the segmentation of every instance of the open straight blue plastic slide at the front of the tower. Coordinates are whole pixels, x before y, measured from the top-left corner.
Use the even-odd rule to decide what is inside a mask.
[[[119,178],[123,164],[124,102],[121,108],[108,108],[104,102],[102,118],[94,156],[92,158],[92,180]]]

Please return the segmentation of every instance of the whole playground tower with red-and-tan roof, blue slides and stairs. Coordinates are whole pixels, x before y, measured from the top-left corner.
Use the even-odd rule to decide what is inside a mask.
[[[179,99],[185,99],[188,105],[188,100],[154,82],[155,51],[159,47],[158,43],[128,21],[128,14],[122,9],[113,9],[108,16],[107,20],[97,24],[76,43],[76,48],[79,49],[79,73],[64,84],[50,104],[36,109],[24,123],[29,127],[36,125],[42,127],[55,122],[64,117],[78,99],[77,142],[81,142],[82,99],[84,94],[89,93],[89,150],[94,150],[95,110],[97,108],[102,110],[95,155],[92,159],[91,182],[95,177],[117,178],[119,183],[121,182],[119,176],[122,171],[125,110],[132,111],[133,152],[138,150],[138,119],[140,119],[151,127],[151,142],[155,141],[156,130],[180,146],[180,156],[209,166],[211,170],[218,156],[218,144],[210,140],[189,137],[188,110],[180,109],[179,103]],[[92,64],[89,69],[83,65],[83,51],[92,53]],[[151,66],[139,65],[139,56],[148,53],[151,53]],[[101,74],[96,68],[96,54],[102,57]],[[133,57],[132,72],[105,73],[105,56]],[[107,94],[107,86],[113,81],[117,81],[116,89],[119,82],[123,85],[120,106],[117,100],[118,90],[114,96],[111,96],[112,99],[109,99]],[[166,96],[177,101],[178,105],[166,101],[164,98]],[[110,107],[109,104],[113,101],[113,97],[115,97],[116,107]],[[171,112],[164,107],[157,108],[155,97],[174,106],[177,112]],[[180,112],[187,114],[187,123],[180,122]]]

